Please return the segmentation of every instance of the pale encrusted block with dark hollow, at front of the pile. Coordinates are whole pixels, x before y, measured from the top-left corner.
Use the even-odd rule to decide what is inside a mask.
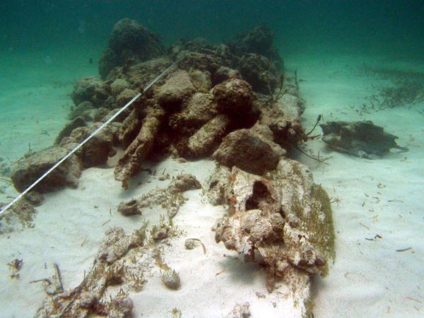
[[[281,160],[264,177],[237,167],[228,175],[229,213],[218,223],[216,241],[247,260],[259,252],[269,268],[269,290],[275,276],[293,269],[326,273],[334,229],[315,187],[310,170],[294,160]]]

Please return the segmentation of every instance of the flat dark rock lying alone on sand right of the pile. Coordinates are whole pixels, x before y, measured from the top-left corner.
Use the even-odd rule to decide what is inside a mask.
[[[384,128],[370,121],[327,122],[321,124],[322,141],[342,153],[360,158],[375,159],[386,155],[391,148],[408,151],[396,143],[397,136],[384,132]]]

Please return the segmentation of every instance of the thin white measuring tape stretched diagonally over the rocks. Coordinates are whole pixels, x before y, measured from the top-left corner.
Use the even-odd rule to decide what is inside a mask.
[[[31,184],[22,193],[20,193],[18,196],[16,196],[16,198],[13,199],[13,201],[11,201],[9,204],[7,204],[6,206],[4,206],[4,208],[1,208],[0,215],[3,214],[4,212],[6,212],[8,208],[10,208],[11,206],[13,206],[13,204],[15,204],[16,201],[18,201],[20,198],[22,198],[23,196],[25,196],[25,194],[27,194],[28,192],[30,192],[30,190],[33,189],[33,187],[35,187],[42,179],[44,179],[45,177],[47,177],[47,175],[49,175],[49,173],[52,172],[54,169],[56,169],[61,163],[63,163],[66,159],[68,159],[69,157],[71,157],[71,155],[73,153],[75,153],[79,148],[81,148],[81,146],[83,146],[84,143],[86,143],[87,141],[89,141],[90,139],[92,139],[93,136],[95,136],[95,134],[97,134],[100,130],[102,130],[103,128],[105,128],[105,126],[107,124],[110,124],[110,122],[112,122],[113,119],[115,119],[116,117],[118,117],[119,114],[121,114],[122,112],[124,112],[124,110],[126,110],[126,108],[128,108],[129,105],[131,105],[141,95],[143,95],[144,93],[146,93],[146,91],[149,88],[151,88],[154,83],[156,83],[157,81],[159,81],[160,78],[162,78],[168,71],[170,71],[170,69],[172,69],[172,67],[174,67],[176,63],[177,63],[177,61],[175,61],[174,63],[172,63],[171,66],[169,66],[167,69],[165,69],[165,71],[163,71],[162,73],[160,73],[158,77],[156,77],[153,81],[151,81],[151,83],[149,83],[148,86],[146,86],[143,89],[143,92],[142,93],[138,93],[137,95],[135,95],[134,98],[132,100],[130,100],[129,102],[127,102],[124,107],[122,107],[120,110],[118,110],[117,112],[115,112],[113,114],[113,116],[110,117],[110,119],[107,119],[107,121],[104,122],[98,129],[95,129],[95,131],[93,131],[93,134],[90,134],[90,136],[88,136],[86,139],[84,139],[83,141],[81,141],[81,143],[78,146],[76,146],[75,148],[73,148],[68,154],[66,154],[64,156],[64,158],[61,158],[61,160],[59,160],[53,167],[51,167],[49,170],[47,170],[44,175],[42,175],[41,177],[39,177],[37,180],[35,180],[35,182],[33,182],[33,184]]]

